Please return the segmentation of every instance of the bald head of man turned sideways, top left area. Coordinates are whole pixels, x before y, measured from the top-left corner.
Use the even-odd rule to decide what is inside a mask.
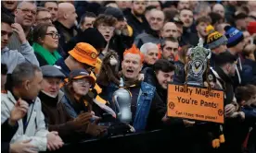
[[[75,24],[77,14],[75,7],[70,3],[58,4],[58,21],[65,27],[71,28]]]

